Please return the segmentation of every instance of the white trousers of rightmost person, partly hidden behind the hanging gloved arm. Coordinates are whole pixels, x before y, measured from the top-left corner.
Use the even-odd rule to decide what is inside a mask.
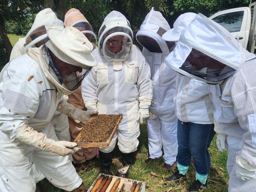
[[[228,161],[227,170],[229,175],[228,192],[256,192],[256,179],[241,181],[236,177],[236,156],[243,149],[243,140],[228,136]]]

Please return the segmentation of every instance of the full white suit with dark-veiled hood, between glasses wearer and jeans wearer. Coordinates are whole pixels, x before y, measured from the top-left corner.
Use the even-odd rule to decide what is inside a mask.
[[[165,163],[172,165],[178,153],[177,117],[173,103],[177,73],[165,65],[164,59],[175,44],[166,42],[161,37],[170,29],[167,20],[152,7],[136,38],[143,46],[142,53],[150,65],[153,84],[153,97],[149,108],[152,116],[147,118],[149,158],[161,157],[163,147]]]

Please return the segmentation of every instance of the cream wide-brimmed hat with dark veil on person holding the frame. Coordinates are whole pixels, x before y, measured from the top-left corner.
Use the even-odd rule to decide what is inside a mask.
[[[57,89],[65,95],[71,94],[78,89],[83,78],[89,73],[93,66],[96,66],[96,59],[91,55],[93,50],[93,44],[74,27],[66,27],[63,30],[55,28],[47,29],[47,35],[49,41],[45,43],[45,46],[41,46],[37,53],[38,48],[29,48],[28,55],[35,59],[41,66],[47,79]],[[65,62],[61,65],[74,65],[76,69],[83,69],[82,75],[79,72],[72,72],[70,74],[62,74],[56,68],[56,63],[52,59],[52,54],[59,60]],[[65,67],[63,66],[63,67]],[[73,69],[74,71],[74,69]],[[79,70],[77,70],[79,71]]]

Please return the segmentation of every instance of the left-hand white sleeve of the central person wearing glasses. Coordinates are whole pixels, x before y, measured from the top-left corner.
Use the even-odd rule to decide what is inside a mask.
[[[82,97],[84,105],[87,111],[97,113],[97,102],[96,96],[97,85],[97,66],[93,67],[89,74],[83,79],[82,82]],[[106,74],[108,75],[108,74]]]

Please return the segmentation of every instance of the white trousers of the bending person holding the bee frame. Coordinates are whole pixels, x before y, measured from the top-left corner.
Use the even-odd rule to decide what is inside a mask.
[[[42,131],[48,138],[58,140],[50,124]],[[2,192],[34,192],[35,176],[32,164],[54,186],[72,191],[82,184],[70,157],[49,153],[18,140],[11,142],[0,132],[0,189]]]

